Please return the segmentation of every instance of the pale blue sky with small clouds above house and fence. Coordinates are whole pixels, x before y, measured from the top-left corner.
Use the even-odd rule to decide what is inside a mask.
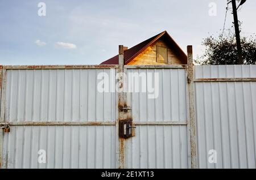
[[[46,14],[42,7],[46,5]],[[226,0],[0,0],[0,64],[97,65],[166,30],[186,52],[224,26]],[[40,5],[38,7],[38,5]],[[226,16],[232,29],[233,15]],[[241,36],[256,32],[256,1],[238,9]]]

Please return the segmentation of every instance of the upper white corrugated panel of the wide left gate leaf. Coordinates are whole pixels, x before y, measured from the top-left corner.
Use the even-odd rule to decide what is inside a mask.
[[[6,121],[116,121],[115,93],[97,91],[100,72],[112,73],[110,69],[7,70]]]

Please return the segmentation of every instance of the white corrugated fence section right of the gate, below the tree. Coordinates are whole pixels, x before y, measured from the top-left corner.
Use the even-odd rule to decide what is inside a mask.
[[[255,78],[256,66],[196,66],[195,77]],[[196,82],[195,95],[199,168],[256,168],[256,82]]]

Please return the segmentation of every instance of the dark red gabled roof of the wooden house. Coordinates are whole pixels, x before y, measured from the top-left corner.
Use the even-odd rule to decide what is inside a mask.
[[[167,31],[161,32],[158,35],[155,35],[151,38],[148,38],[146,41],[143,41],[130,49],[127,49],[123,52],[123,58],[125,59],[125,65],[133,60],[137,55],[141,54],[143,50],[148,48],[159,39],[163,39],[168,46],[174,49],[176,55],[181,59],[184,65],[187,64],[187,55],[183,52],[179,45],[174,41],[174,39],[167,33]],[[118,65],[118,55],[104,61],[101,65]]]

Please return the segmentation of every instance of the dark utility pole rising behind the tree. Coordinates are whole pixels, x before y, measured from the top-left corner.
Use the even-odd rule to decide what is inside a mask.
[[[240,40],[240,29],[239,29],[238,18],[237,18],[236,0],[232,0],[232,7],[233,7],[233,16],[234,16],[234,27],[235,27],[236,39],[237,39],[238,62],[240,65],[242,65],[243,64],[242,47],[241,47],[241,40]]]

